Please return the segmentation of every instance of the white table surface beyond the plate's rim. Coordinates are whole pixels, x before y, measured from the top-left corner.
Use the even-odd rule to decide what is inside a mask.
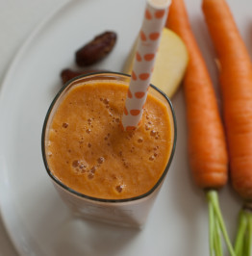
[[[67,0],[0,0],[0,90],[19,47],[49,13]],[[0,215],[0,256],[17,256]]]

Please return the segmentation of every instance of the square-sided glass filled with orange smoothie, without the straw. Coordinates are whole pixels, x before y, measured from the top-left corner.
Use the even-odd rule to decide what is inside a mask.
[[[42,130],[47,173],[81,218],[140,227],[161,189],[176,143],[170,100],[150,86],[138,129],[123,131],[130,76],[79,76],[56,95]]]

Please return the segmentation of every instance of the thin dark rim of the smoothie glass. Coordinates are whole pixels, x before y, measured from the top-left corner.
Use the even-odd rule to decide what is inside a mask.
[[[81,198],[85,198],[88,199],[90,201],[95,201],[95,202],[103,202],[103,203],[122,203],[122,202],[130,202],[130,201],[136,201],[142,198],[147,197],[148,195],[150,195],[151,193],[155,192],[156,189],[161,185],[161,183],[164,181],[164,177],[166,175],[166,173],[168,172],[169,166],[171,165],[174,153],[175,153],[175,148],[176,148],[176,141],[177,141],[177,123],[176,123],[176,116],[175,116],[175,112],[174,112],[174,108],[172,106],[172,103],[170,101],[170,99],[168,98],[168,96],[164,93],[164,91],[158,89],[157,87],[155,87],[154,85],[150,84],[150,87],[154,90],[157,90],[160,94],[162,94],[162,96],[164,97],[164,99],[166,100],[166,102],[168,103],[168,106],[170,108],[170,112],[172,115],[172,123],[173,123],[173,131],[174,131],[174,136],[173,136],[173,144],[172,144],[172,148],[171,148],[171,152],[170,152],[170,156],[167,162],[167,165],[164,168],[163,174],[161,175],[161,177],[159,178],[159,180],[156,182],[156,184],[148,191],[142,194],[139,194],[138,196],[134,196],[134,197],[129,197],[129,198],[122,198],[122,199],[107,199],[107,198],[99,198],[99,197],[94,197],[94,196],[90,196],[87,195],[85,193],[82,192],[77,192],[71,188],[69,188],[68,186],[66,186],[65,184],[63,184],[63,182],[58,179],[50,170],[50,167],[47,163],[47,158],[46,158],[46,153],[45,153],[45,135],[46,135],[46,128],[47,128],[47,124],[48,124],[48,119],[51,115],[52,110],[54,109],[54,106],[56,104],[56,102],[58,101],[58,99],[60,98],[60,96],[62,95],[63,91],[66,90],[68,88],[69,85],[71,85],[73,82],[77,82],[80,79],[83,79],[85,77],[92,77],[92,76],[97,76],[97,75],[102,75],[102,76],[108,76],[108,75],[113,75],[113,76],[121,76],[121,77],[128,77],[130,78],[131,76],[129,74],[125,74],[125,73],[121,73],[121,72],[112,72],[112,71],[104,71],[104,72],[92,72],[92,73],[88,73],[88,74],[83,74],[83,75],[79,75],[77,77],[74,77],[72,79],[70,79],[69,81],[67,81],[64,85],[63,88],[61,90],[59,90],[59,92],[56,94],[56,96],[54,97],[53,101],[51,102],[49,109],[45,115],[45,119],[43,122],[43,127],[42,127],[42,135],[41,135],[41,151],[42,151],[42,159],[43,159],[43,163],[44,166],[46,168],[47,174],[51,177],[51,179],[57,184],[59,185],[63,190],[65,190],[66,192],[70,192],[71,194],[81,197]]]

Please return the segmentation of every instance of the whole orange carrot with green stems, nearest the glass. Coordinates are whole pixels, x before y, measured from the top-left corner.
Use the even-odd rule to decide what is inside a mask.
[[[191,31],[183,0],[172,1],[166,27],[184,40],[189,51],[189,64],[183,81],[187,107],[189,166],[195,184],[207,192],[209,200],[211,255],[214,252],[215,255],[222,255],[219,228],[231,254],[234,255],[217,197],[217,190],[226,184],[228,176],[224,128],[213,83]]]

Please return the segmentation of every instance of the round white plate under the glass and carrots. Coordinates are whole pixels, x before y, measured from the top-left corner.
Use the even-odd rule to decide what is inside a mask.
[[[250,52],[252,2],[229,0]],[[193,31],[214,82],[214,50],[200,9],[188,0]],[[172,102],[178,122],[174,161],[145,228],[122,229],[72,218],[44,169],[40,136],[44,116],[61,88],[60,71],[74,66],[74,51],[93,36],[118,34],[101,68],[120,71],[138,35],[144,0],[71,1],[26,41],[7,74],[0,100],[0,200],[10,237],[20,255],[208,255],[208,212],[204,193],[190,177],[182,91]],[[246,35],[246,36],[245,36]],[[231,238],[240,202],[220,192]]]

